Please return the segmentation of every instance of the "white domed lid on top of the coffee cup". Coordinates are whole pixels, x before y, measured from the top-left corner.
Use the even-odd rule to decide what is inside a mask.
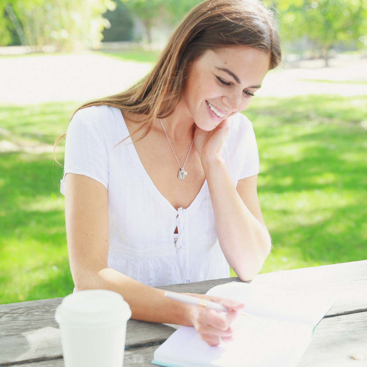
[[[122,295],[105,289],[88,289],[68,294],[55,313],[58,323],[90,325],[127,322],[130,317],[130,306]]]

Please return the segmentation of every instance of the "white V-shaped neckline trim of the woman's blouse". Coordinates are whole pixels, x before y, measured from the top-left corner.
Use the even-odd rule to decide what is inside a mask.
[[[113,109],[115,110],[115,113],[117,115],[117,119],[119,121],[121,121],[121,129],[122,129],[122,132],[124,134],[124,138],[126,138],[128,135],[130,135],[130,132],[128,131],[125,119],[122,115],[122,112],[117,107],[114,107]],[[128,142],[127,143],[127,148],[130,152],[130,156],[131,156],[132,160],[134,161],[135,168],[137,169],[140,177],[144,181],[144,183],[145,183],[146,187],[148,188],[149,192],[151,193],[151,195],[155,198],[156,201],[159,202],[159,204],[163,207],[163,209],[166,210],[167,214],[172,215],[174,217],[177,217],[178,210],[176,210],[176,208],[174,206],[172,206],[172,204],[166,199],[166,197],[164,197],[162,195],[162,193],[157,189],[156,185],[154,184],[154,182],[152,181],[152,179],[148,175],[148,172],[144,168],[144,166],[141,162],[141,159],[138,155],[138,152],[135,149],[135,145],[132,142],[131,137],[126,139],[126,141]],[[208,191],[209,191],[208,182],[207,182],[207,179],[205,178],[205,181],[204,181],[203,185],[201,186],[201,188],[199,190],[199,193],[197,193],[195,199],[191,202],[191,204],[187,208],[182,208],[182,209],[184,211],[186,211],[187,214],[191,215],[193,212],[195,212],[197,210],[197,208],[199,207],[201,202],[206,197]]]

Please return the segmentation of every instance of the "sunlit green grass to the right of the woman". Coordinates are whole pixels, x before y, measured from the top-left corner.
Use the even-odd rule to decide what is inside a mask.
[[[274,246],[260,273],[366,259],[367,96],[252,102]]]

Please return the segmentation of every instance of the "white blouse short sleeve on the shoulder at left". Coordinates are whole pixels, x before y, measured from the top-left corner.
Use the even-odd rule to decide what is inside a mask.
[[[109,158],[107,145],[97,128],[87,118],[87,113],[84,110],[78,110],[74,114],[66,131],[63,177],[60,182],[60,191],[64,196],[65,175],[67,173],[88,176],[101,182],[108,190]]]

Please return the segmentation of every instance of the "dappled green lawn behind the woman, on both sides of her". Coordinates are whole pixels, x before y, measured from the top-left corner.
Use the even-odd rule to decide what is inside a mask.
[[[3,136],[52,144],[75,102],[0,106]],[[244,113],[257,137],[258,196],[274,249],[261,273],[366,258],[367,96],[254,98]],[[64,141],[57,148],[63,162]],[[0,304],[73,290],[62,167],[52,153],[0,154]],[[231,270],[231,276],[235,273]]]

